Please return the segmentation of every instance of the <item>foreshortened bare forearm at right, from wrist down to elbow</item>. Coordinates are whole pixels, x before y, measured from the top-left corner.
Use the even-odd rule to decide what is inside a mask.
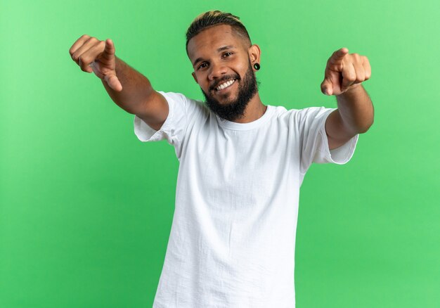
[[[362,84],[336,96],[337,108],[345,127],[354,134],[365,133],[374,121],[373,102]]]

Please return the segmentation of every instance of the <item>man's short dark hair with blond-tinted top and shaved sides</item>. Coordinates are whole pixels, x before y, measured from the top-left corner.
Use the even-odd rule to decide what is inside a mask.
[[[242,24],[238,16],[221,11],[207,11],[198,15],[188,27],[186,31],[186,51],[188,52],[188,42],[190,39],[214,25],[231,25],[235,33],[245,39],[248,45],[252,44],[249,33],[247,33],[245,25]]]

